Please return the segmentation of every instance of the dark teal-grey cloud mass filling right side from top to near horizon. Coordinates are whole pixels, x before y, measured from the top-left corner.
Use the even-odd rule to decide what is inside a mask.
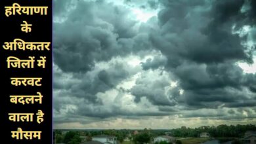
[[[255,99],[255,75],[244,74],[236,65],[238,60],[252,62],[255,50],[248,52],[241,45],[244,38],[232,33],[232,27],[241,21],[244,24],[240,27],[251,24],[241,12],[244,1],[161,3],[165,7],[158,14],[161,29],[150,38],[167,58],[165,68],[174,73],[184,90],[179,104],[198,108],[223,103],[226,107],[235,103],[238,107],[255,106],[246,102]],[[248,93],[238,93],[243,88],[253,94],[248,98]]]

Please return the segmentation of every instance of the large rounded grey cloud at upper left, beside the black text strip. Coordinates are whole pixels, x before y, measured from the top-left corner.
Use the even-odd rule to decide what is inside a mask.
[[[54,62],[64,71],[86,72],[95,62],[131,53],[133,49],[122,46],[129,41],[122,38],[135,36],[135,21],[129,20],[127,14],[124,7],[104,1],[78,1],[64,22],[54,23]],[[138,36],[131,42],[137,45],[142,38]]]

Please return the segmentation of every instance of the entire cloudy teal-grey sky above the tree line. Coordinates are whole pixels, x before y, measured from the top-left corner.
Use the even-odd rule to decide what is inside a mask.
[[[256,1],[53,5],[54,128],[256,124]]]

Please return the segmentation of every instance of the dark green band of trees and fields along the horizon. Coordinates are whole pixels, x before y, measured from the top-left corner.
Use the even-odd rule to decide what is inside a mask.
[[[219,126],[202,126],[199,128],[186,128],[182,126],[181,128],[173,130],[137,130],[139,134],[133,134],[135,130],[70,130],[66,134],[62,134],[61,130],[54,130],[54,141],[56,143],[66,143],[66,144],[79,144],[81,141],[91,141],[91,137],[95,135],[114,135],[117,140],[122,144],[133,144],[133,143],[149,143],[154,137],[158,135],[169,134],[180,140],[176,143],[190,144],[190,143],[202,143],[203,141],[209,140],[209,138],[200,138],[202,132],[207,132],[211,137],[215,137],[220,142],[230,141],[237,139],[237,137],[244,137],[246,131],[256,131],[256,126],[252,124],[248,125],[219,125]],[[81,139],[80,136],[83,136]],[[86,136],[86,137],[85,137]],[[123,141],[125,137],[128,137],[130,141]],[[182,137],[190,137],[182,139]],[[240,141],[235,140],[234,144],[240,143]],[[162,142],[161,144],[165,144]]]

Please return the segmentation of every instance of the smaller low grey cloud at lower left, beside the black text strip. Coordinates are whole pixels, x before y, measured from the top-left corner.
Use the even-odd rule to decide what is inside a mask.
[[[79,99],[83,103],[102,105],[102,101],[96,97],[96,94],[106,92],[112,88],[115,89],[114,86],[132,73],[131,67],[125,67],[121,63],[113,63],[108,69],[98,69],[87,74],[64,75],[62,71],[56,70],[54,72],[56,76],[54,79],[56,80],[53,86],[59,92],[59,99],[54,101],[54,108],[58,111],[61,108],[60,105],[71,103],[72,98]],[[76,105],[77,103],[72,104]],[[81,111],[84,111],[84,109],[81,109]]]

